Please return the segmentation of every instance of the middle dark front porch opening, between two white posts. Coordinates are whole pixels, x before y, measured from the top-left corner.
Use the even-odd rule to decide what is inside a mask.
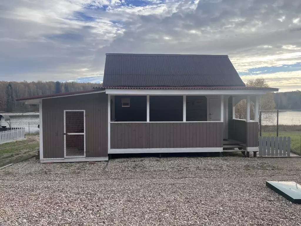
[[[183,121],[183,96],[150,96],[150,121]]]

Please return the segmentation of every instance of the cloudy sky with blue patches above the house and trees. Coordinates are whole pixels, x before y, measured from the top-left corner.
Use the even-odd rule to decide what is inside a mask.
[[[228,55],[243,81],[301,89],[301,1],[0,1],[0,80],[99,83],[105,53]]]

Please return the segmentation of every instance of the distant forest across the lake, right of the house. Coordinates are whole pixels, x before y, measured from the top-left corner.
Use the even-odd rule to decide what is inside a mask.
[[[276,109],[279,110],[301,110],[301,91],[275,93],[274,100]]]

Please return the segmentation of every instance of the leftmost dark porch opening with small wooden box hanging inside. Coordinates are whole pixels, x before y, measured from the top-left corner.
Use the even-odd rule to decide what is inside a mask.
[[[114,121],[146,121],[146,96],[115,96],[114,102],[115,109],[111,107],[115,111]]]

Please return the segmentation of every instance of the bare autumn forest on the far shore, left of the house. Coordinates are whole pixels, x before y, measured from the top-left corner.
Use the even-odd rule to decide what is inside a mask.
[[[99,83],[76,82],[5,82],[0,81],[0,112],[28,112],[38,111],[36,105],[26,105],[25,102],[16,101],[17,98],[26,96],[39,96],[53,93],[90,90],[99,87]]]

